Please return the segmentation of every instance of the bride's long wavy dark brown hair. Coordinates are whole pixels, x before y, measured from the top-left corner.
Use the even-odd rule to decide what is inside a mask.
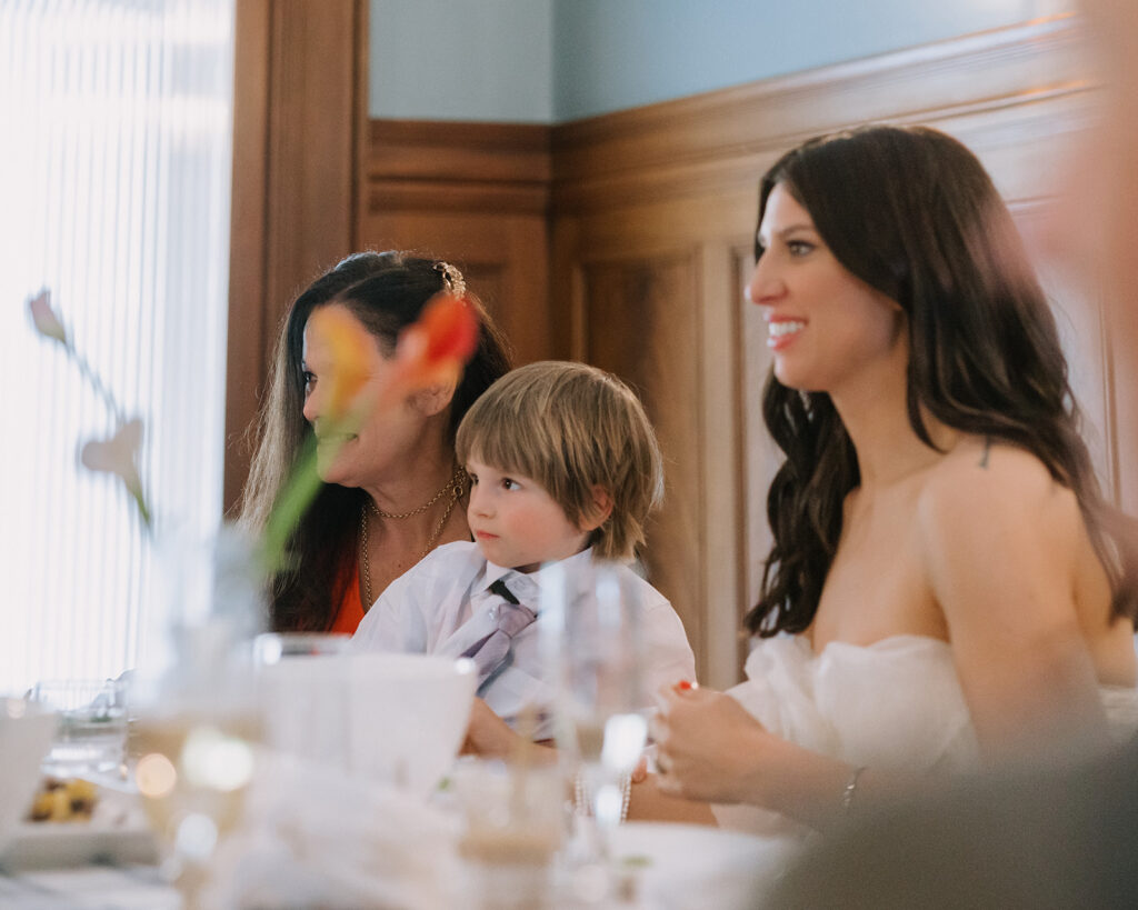
[[[782,185],[809,212],[838,262],[896,300],[908,325],[907,404],[957,430],[1038,457],[1078,498],[1106,569],[1112,615],[1135,618],[1133,557],[1104,529],[1103,502],[1067,382],[1055,320],[1012,216],[976,157],[925,127],[869,126],[813,139],[759,188],[759,222]],[[762,250],[756,248],[756,260]],[[774,547],[751,632],[801,632],[814,621],[842,529],[857,455],[830,396],[772,373],[764,417],[786,461],[767,497]]]

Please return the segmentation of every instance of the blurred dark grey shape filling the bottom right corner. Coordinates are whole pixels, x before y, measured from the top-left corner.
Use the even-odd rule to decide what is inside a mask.
[[[764,905],[1132,908],[1136,818],[1133,744],[1078,768],[975,778],[835,833]]]

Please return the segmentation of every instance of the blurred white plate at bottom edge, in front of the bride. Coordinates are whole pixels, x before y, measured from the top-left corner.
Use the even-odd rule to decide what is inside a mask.
[[[785,842],[700,825],[630,821],[612,832],[612,858],[636,879],[637,905],[753,908],[785,868]]]

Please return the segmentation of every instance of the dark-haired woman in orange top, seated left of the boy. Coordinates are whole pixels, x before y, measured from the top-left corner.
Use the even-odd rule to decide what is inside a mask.
[[[439,383],[374,412],[321,464],[325,482],[290,541],[291,565],[271,587],[278,631],[354,632],[395,578],[440,544],[467,540],[465,472],[454,433],[481,392],[510,369],[504,339],[453,265],[411,254],[357,253],[296,298],[273,359],[241,520],[259,529],[313,432],[320,436],[328,351],[306,332],[320,307],[343,307],[376,342],[372,381],[389,369],[402,329],[436,295],[462,295],[479,315],[478,347],[457,386]]]

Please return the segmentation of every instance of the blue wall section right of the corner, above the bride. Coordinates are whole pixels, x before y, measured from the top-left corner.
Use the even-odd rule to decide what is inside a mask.
[[[571,121],[1070,8],[1071,0],[559,0],[553,115]]]

